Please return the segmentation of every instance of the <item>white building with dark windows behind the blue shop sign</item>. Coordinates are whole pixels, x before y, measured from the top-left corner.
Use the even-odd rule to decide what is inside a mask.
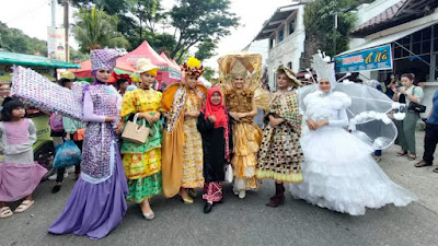
[[[377,0],[359,7],[350,49],[338,57],[382,45],[391,46],[392,69],[359,71],[362,80],[383,82],[391,73],[399,79],[414,73],[416,82],[425,85],[424,104],[429,110],[438,87],[438,1]]]

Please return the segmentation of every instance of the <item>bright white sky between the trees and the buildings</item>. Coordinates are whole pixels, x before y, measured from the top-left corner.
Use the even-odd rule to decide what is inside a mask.
[[[8,1],[0,8],[0,21],[7,23],[9,27],[22,30],[31,37],[47,40],[47,26],[51,25],[50,0],[1,0]],[[173,0],[162,0],[164,7],[173,5]],[[290,4],[291,0],[231,0],[231,11],[241,17],[241,25],[231,30],[231,35],[223,37],[216,49],[215,56],[204,63],[217,68],[217,59],[229,52],[242,50],[246,47],[263,23],[268,20],[278,7]],[[72,12],[70,14],[72,15]],[[57,7],[57,24],[61,25],[64,11]],[[70,20],[73,20],[72,17]],[[70,44],[77,48],[78,45],[70,38]],[[267,43],[256,43],[252,51],[262,52]],[[266,59],[266,57],[264,57]]]

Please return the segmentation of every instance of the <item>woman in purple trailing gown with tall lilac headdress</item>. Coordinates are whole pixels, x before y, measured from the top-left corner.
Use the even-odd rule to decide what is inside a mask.
[[[108,86],[118,51],[91,50],[95,81],[83,95],[83,118],[88,122],[83,142],[81,176],[60,216],[48,230],[53,234],[87,235],[100,239],[116,227],[126,213],[126,176],[114,133],[120,132],[118,112],[122,97]]]

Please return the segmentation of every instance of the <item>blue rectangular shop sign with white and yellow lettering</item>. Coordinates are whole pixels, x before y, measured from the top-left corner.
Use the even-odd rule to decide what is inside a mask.
[[[391,45],[335,57],[336,73],[392,69]]]

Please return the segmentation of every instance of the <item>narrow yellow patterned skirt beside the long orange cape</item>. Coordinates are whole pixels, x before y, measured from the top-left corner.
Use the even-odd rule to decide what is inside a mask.
[[[203,140],[196,128],[196,119],[184,121],[183,180],[181,187],[203,188]]]

